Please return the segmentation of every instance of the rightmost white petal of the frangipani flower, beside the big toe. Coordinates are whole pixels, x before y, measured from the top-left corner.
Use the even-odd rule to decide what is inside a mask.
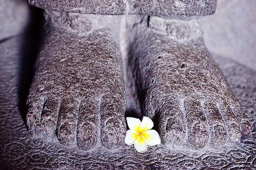
[[[150,145],[150,146],[154,146],[156,144],[160,144],[161,143],[160,136],[157,133],[157,131],[155,131],[155,130],[145,131],[145,132],[141,133],[141,135],[146,140],[146,143],[148,145]]]

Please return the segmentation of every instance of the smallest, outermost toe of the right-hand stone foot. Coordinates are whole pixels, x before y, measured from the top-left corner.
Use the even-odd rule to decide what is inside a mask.
[[[244,111],[242,110],[238,102],[231,105],[231,109],[240,122],[242,138],[248,137],[251,134],[251,125],[248,117],[245,115]]]

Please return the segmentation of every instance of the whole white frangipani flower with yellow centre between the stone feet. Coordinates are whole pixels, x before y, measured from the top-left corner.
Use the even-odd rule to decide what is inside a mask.
[[[154,146],[161,143],[161,139],[157,131],[151,130],[154,123],[149,117],[143,117],[142,121],[134,117],[126,117],[128,127],[125,136],[126,144],[134,144],[134,148],[140,152],[147,151],[147,145]]]

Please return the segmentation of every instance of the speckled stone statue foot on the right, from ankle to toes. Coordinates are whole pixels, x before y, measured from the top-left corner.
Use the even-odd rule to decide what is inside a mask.
[[[251,133],[198,22],[133,16],[127,32],[142,112],[157,119],[167,148],[219,149]]]

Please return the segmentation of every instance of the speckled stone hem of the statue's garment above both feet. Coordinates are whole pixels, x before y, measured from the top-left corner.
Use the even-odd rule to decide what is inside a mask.
[[[177,15],[200,16],[213,14],[217,0],[204,1],[147,1],[147,0],[29,0],[33,6],[54,11],[79,12],[87,14],[140,14],[161,17]]]

